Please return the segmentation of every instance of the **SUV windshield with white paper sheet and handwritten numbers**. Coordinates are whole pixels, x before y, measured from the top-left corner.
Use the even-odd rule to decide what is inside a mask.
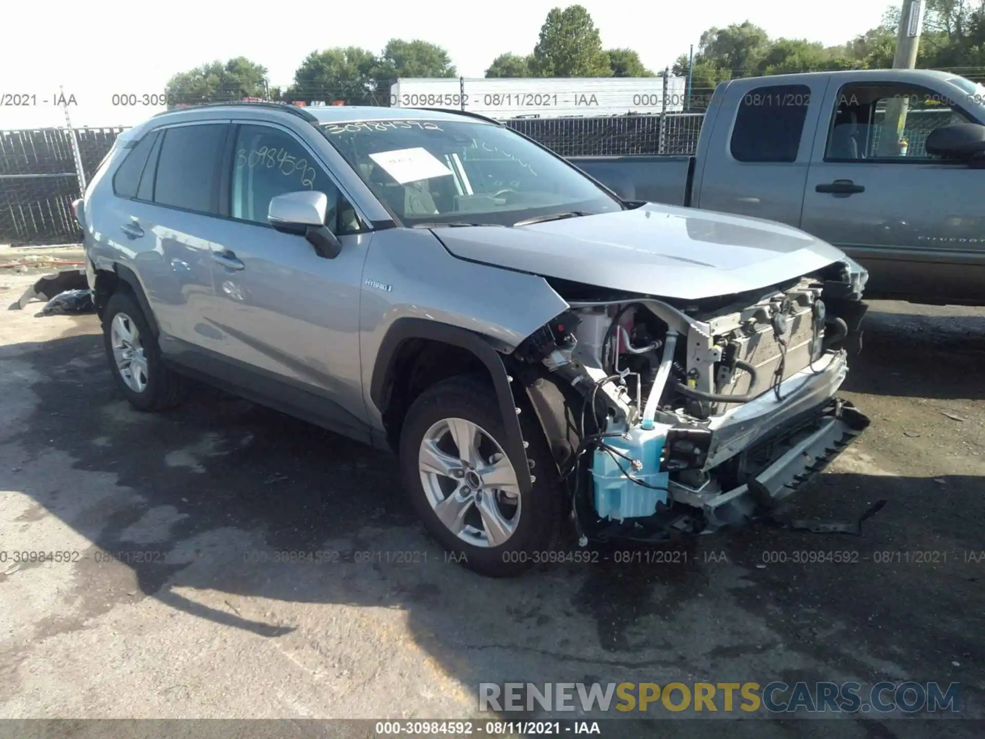
[[[512,226],[623,209],[575,169],[489,123],[370,120],[322,130],[405,226]]]

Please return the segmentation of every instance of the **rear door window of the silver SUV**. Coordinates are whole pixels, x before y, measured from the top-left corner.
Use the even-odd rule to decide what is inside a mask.
[[[164,131],[154,202],[199,213],[219,213],[219,170],[228,126],[196,123]]]

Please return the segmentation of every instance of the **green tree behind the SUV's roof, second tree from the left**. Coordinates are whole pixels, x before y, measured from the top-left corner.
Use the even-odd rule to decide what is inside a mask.
[[[284,97],[288,101],[372,104],[376,64],[375,54],[359,46],[312,51],[295,70],[295,84]]]

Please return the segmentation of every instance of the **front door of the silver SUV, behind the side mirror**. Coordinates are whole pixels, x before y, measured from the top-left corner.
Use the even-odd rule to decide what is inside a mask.
[[[257,120],[232,125],[223,165],[227,220],[212,254],[214,297],[203,308],[222,333],[227,376],[247,397],[368,440],[359,309],[371,234],[294,131]],[[267,222],[273,197],[311,189],[328,195],[327,225],[342,242],[334,259]]]

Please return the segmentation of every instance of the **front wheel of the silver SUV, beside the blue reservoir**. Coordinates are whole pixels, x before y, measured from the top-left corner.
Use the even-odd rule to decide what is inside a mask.
[[[400,441],[404,485],[430,534],[470,570],[517,574],[555,546],[562,501],[557,469],[552,475],[543,439],[524,436],[541,473],[527,494],[503,450],[502,416],[488,383],[452,377],[427,389],[408,411]]]

